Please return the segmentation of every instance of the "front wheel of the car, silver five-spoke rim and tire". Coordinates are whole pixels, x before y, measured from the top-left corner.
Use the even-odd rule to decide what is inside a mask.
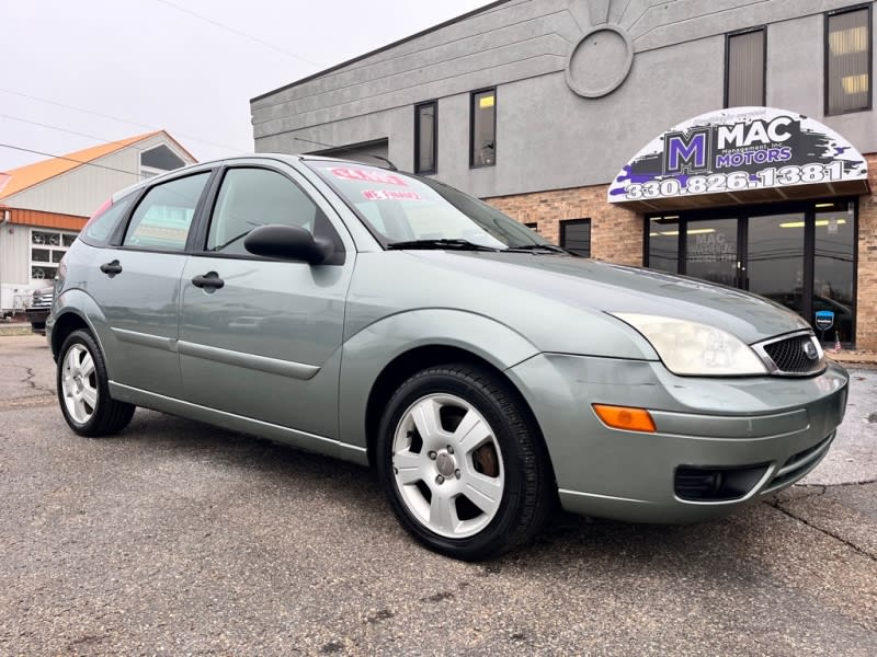
[[[542,438],[520,395],[469,365],[432,367],[402,383],[376,456],[405,528],[456,558],[488,558],[526,541],[554,499]]]

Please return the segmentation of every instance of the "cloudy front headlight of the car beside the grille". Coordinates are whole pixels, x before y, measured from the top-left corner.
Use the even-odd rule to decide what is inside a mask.
[[[639,331],[658,351],[667,369],[676,374],[726,377],[767,373],[764,362],[749,345],[721,328],[658,315],[611,314]]]

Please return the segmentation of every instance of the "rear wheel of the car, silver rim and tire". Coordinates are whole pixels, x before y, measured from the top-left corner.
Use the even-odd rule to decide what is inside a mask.
[[[64,418],[80,436],[117,434],[134,415],[134,405],[110,396],[103,355],[86,331],[73,331],[64,341],[57,388]]]

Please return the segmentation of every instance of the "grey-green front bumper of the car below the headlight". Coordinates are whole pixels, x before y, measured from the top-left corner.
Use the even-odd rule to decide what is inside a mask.
[[[545,436],[565,509],[694,522],[784,488],[824,457],[846,406],[834,364],[811,378],[692,378],[661,362],[540,354],[506,372]],[[591,404],[648,408],[657,433],[606,427]],[[677,473],[747,469],[728,498],[680,496]]]

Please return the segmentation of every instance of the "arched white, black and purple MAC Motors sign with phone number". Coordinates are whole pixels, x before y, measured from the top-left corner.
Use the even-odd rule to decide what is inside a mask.
[[[862,154],[821,123],[774,107],[703,114],[658,136],[610,186],[610,203],[864,181]]]

